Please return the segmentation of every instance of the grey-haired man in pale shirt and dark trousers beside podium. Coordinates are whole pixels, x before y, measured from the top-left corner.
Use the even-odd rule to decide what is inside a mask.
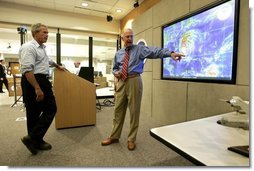
[[[47,26],[41,23],[32,26],[33,40],[23,44],[19,50],[21,86],[26,107],[27,132],[21,141],[32,154],[38,150],[50,150],[52,146],[43,140],[57,111],[52,85],[48,80],[49,65],[64,70],[46,53]]]

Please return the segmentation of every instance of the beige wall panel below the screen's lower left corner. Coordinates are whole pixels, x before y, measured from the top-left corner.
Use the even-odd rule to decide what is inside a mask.
[[[186,121],[187,84],[153,80],[152,117],[166,124]]]

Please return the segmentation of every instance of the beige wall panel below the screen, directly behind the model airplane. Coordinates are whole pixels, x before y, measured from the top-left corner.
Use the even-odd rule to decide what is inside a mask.
[[[247,86],[188,83],[187,88],[187,120],[231,112],[230,105],[221,99],[229,100],[232,96],[240,96],[249,100]]]

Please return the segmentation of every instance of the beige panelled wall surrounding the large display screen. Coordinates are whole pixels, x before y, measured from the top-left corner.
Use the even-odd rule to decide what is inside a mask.
[[[135,40],[161,46],[161,26],[215,0],[161,0],[133,22]],[[165,124],[231,111],[220,99],[233,95],[249,100],[249,1],[240,2],[237,79],[235,85],[161,80],[161,60],[148,60],[143,78],[142,114]]]

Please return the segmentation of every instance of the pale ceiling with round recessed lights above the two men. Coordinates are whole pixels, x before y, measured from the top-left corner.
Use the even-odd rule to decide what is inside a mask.
[[[113,19],[120,20],[134,9],[133,5],[137,0],[0,0],[2,2],[46,8],[57,11],[79,13],[97,17],[111,15]],[[144,0],[138,0],[141,4]],[[88,7],[82,7],[81,3],[86,2]],[[121,9],[121,13],[116,10]]]

